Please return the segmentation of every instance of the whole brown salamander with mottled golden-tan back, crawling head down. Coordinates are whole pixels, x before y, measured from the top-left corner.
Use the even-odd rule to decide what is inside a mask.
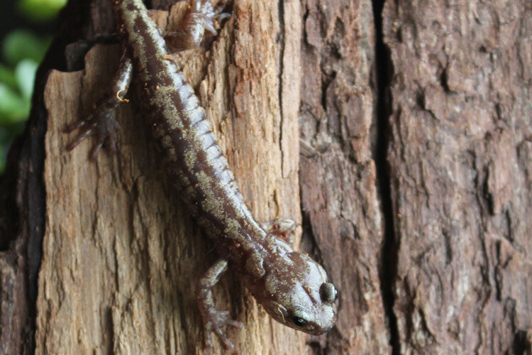
[[[204,109],[199,107],[194,90],[185,82],[178,65],[168,59],[165,40],[142,1],[113,0],[113,8],[126,53],[113,85],[96,102],[92,116],[72,126],[72,130],[80,131],[69,148],[94,134],[98,138],[95,154],[104,143],[116,149],[113,110],[133,77],[140,108],[165,154],[168,173],[199,224],[216,241],[221,256],[196,288],[206,346],[210,346],[209,333],[214,331],[232,349],[223,328],[242,325],[214,306],[211,288],[228,267],[240,274],[248,290],[275,320],[309,334],[331,329],[336,321],[336,289],[328,283],[326,272],[318,263],[294,251],[284,240],[293,234],[294,221],[255,221],[216,143]],[[182,38],[182,43],[187,43],[184,46],[198,45],[205,29],[216,33],[216,16],[218,13],[208,1],[202,4],[194,0]]]

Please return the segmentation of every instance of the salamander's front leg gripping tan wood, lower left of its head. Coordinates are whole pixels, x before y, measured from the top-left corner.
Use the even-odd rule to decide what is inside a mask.
[[[199,310],[204,322],[205,331],[205,348],[211,347],[211,332],[215,332],[218,338],[223,342],[227,349],[233,349],[233,344],[229,341],[224,332],[226,326],[241,328],[242,323],[229,319],[228,311],[218,311],[214,305],[212,288],[221,275],[227,270],[227,261],[220,259],[214,263],[209,270],[199,280],[196,287],[196,299],[199,304]]]

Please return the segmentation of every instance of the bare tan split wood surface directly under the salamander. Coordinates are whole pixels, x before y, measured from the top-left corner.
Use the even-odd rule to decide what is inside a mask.
[[[180,21],[183,5],[172,9],[169,30]],[[233,10],[211,50],[176,59],[212,118],[257,218],[300,221],[298,107],[281,107],[279,94],[289,102],[299,97],[299,2],[287,1],[282,13],[277,4],[261,1],[239,1]],[[291,23],[282,42],[275,40],[279,14]],[[164,13],[154,16],[167,23]],[[92,163],[91,143],[72,152],[64,148],[72,137],[62,128],[87,116],[120,52],[96,46],[85,70],[52,72],[45,89],[47,212],[38,353],[191,354],[203,346],[194,286],[217,256],[172,193],[136,113],[137,98],[118,111],[117,155],[100,154]],[[245,324],[229,330],[236,348],[243,354],[304,352],[305,335],[271,320],[229,275],[215,296],[219,309]],[[214,344],[216,353],[223,352],[216,339]]]

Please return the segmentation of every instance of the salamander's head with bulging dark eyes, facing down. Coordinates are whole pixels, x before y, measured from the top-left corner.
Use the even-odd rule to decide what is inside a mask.
[[[336,322],[336,288],[323,268],[306,254],[292,251],[284,263],[271,265],[265,275],[265,293],[257,300],[278,322],[320,335]]]

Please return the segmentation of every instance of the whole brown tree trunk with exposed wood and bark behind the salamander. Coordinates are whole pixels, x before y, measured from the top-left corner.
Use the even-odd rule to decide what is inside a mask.
[[[184,6],[153,16],[172,30]],[[238,352],[531,352],[527,0],[232,10],[174,58],[255,216],[297,219],[300,249],[340,290],[336,327],[309,337],[228,273],[215,296],[245,324],[228,331]],[[116,155],[92,162],[92,139],[65,150],[120,49],[87,43],[113,32],[108,0],[70,1],[60,23],[1,181],[0,352],[199,354],[193,290],[216,253],[172,194],[137,97],[118,110]]]

